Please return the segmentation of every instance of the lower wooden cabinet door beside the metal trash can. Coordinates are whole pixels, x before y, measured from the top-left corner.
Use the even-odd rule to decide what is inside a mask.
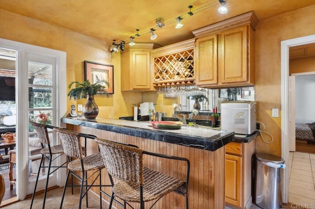
[[[242,157],[225,154],[225,203],[241,208]]]

